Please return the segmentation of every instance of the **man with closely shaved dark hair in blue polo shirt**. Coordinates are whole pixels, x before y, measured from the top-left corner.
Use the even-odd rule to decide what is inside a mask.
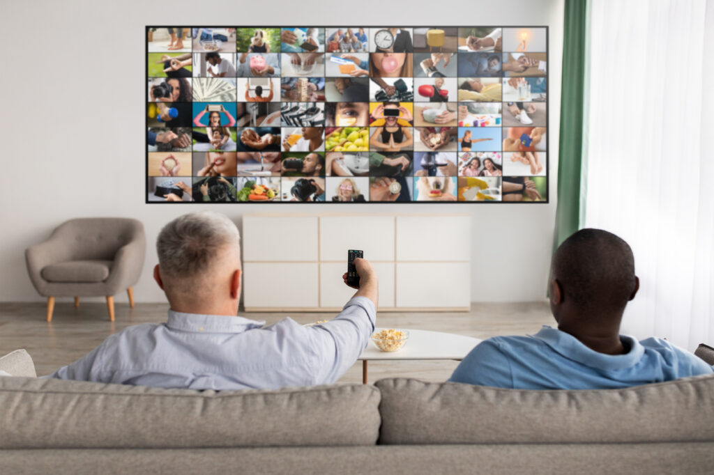
[[[607,389],[639,386],[713,368],[659,338],[638,342],[620,334],[627,302],[640,287],[627,242],[583,229],[558,247],[550,269],[550,311],[526,337],[493,337],[474,347],[451,382],[513,389]]]

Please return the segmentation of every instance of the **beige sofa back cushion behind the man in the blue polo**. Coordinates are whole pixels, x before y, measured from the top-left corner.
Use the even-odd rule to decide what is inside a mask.
[[[714,375],[537,391],[381,379],[380,444],[714,441]]]

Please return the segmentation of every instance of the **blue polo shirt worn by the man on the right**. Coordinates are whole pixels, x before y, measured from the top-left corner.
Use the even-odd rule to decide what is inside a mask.
[[[456,367],[451,382],[513,389],[612,389],[711,374],[713,367],[660,338],[620,340],[626,354],[604,354],[543,325],[526,337],[483,340]]]

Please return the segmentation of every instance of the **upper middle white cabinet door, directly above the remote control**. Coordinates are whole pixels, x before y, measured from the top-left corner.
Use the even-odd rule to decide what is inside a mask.
[[[393,216],[320,218],[320,260],[347,261],[347,250],[364,251],[371,262],[394,260]]]

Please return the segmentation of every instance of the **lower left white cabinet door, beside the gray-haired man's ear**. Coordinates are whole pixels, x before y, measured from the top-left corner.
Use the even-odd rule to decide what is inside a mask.
[[[318,306],[317,262],[246,262],[243,305],[246,309]]]

